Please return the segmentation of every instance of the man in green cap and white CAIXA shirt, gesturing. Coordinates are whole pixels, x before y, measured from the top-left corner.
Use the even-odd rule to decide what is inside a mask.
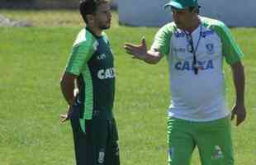
[[[148,64],[168,59],[171,105],[168,108],[168,162],[189,165],[197,146],[202,165],[233,165],[230,111],[225,100],[225,59],[233,71],[236,125],[245,120],[244,56],[221,21],[199,16],[197,0],[172,0],[165,5],[173,22],[163,26],[147,50],[127,43],[126,52]]]

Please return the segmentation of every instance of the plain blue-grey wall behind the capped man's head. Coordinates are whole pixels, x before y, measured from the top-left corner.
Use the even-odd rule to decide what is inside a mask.
[[[119,21],[131,26],[163,26],[172,21],[164,11],[168,0],[117,0]],[[256,26],[256,0],[198,0],[201,16],[224,21],[228,26]]]

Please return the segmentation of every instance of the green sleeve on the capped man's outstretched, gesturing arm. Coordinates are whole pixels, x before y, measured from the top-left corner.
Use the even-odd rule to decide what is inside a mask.
[[[161,54],[169,54],[170,41],[173,32],[176,31],[177,27],[174,22],[168,23],[167,25],[160,28],[154,37],[154,43],[151,46],[151,50],[158,50]]]

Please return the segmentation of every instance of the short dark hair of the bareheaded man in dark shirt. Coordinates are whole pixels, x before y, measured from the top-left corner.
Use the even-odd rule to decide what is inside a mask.
[[[83,21],[88,23],[87,15],[94,14],[97,11],[97,7],[101,3],[106,3],[107,0],[81,0],[79,2],[79,11],[83,17]]]

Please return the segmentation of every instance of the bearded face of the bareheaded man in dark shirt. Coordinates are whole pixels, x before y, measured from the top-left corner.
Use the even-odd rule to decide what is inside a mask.
[[[108,2],[103,2],[97,7],[97,12],[94,14],[95,26],[100,30],[105,30],[111,26],[111,11]]]

